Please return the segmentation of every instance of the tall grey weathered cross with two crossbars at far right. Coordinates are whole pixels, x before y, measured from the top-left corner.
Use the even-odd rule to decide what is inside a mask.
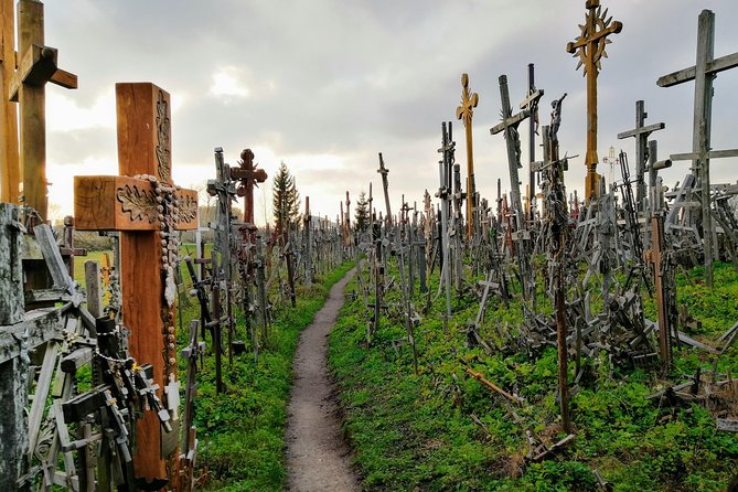
[[[697,62],[656,81],[659,87],[671,87],[685,82],[695,82],[694,120],[692,130],[692,152],[671,156],[672,161],[692,161],[692,172],[698,174],[702,190],[702,227],[705,242],[705,281],[713,286],[713,257],[717,253],[717,240],[713,237],[710,212],[709,160],[738,157],[738,149],[710,150],[710,127],[713,114],[713,79],[718,73],[738,66],[738,53],[714,58],[715,13],[703,10],[697,23]]]

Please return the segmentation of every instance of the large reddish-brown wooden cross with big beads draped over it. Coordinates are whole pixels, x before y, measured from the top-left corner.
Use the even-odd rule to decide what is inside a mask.
[[[153,365],[161,398],[163,388],[177,381],[171,295],[178,252],[172,239],[174,228],[197,227],[197,193],[172,184],[169,94],[150,83],[116,84],[116,100],[120,175],[75,177],[75,218],[81,231],[120,231],[122,317],[131,331],[130,352],[140,364]],[[133,178],[140,174],[152,178]],[[137,426],[137,477],[150,481],[177,475],[178,453],[162,459],[162,445],[159,419],[147,411]]]

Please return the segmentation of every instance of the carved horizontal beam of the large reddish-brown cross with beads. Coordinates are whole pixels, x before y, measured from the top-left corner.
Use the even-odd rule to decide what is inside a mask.
[[[153,184],[125,175],[74,177],[77,231],[159,231]],[[197,192],[179,190],[178,228],[197,228]]]

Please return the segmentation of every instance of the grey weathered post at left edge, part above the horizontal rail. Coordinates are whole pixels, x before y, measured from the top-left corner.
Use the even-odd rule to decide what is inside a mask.
[[[19,214],[17,205],[0,203],[0,325],[15,324],[23,319],[23,226]]]

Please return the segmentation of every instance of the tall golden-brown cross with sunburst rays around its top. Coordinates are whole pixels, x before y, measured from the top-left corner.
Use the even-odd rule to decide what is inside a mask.
[[[607,57],[605,49],[612,41],[609,34],[622,31],[622,22],[608,18],[607,9],[602,12],[600,0],[587,0],[585,9],[588,10],[585,23],[579,24],[581,34],[574,42],[566,45],[566,51],[579,56],[577,68],[584,65],[584,75],[587,77],[587,154],[585,165],[587,178],[585,179],[585,200],[597,199],[599,193],[599,181],[602,177],[597,173],[597,76],[601,68],[601,58]]]

